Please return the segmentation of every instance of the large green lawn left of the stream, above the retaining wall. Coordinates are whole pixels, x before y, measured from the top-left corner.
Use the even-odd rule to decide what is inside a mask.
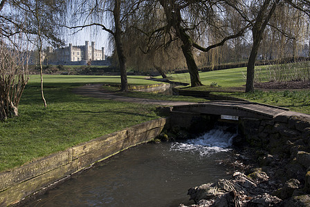
[[[116,79],[116,77],[115,77]],[[0,122],[0,171],[96,137],[158,118],[155,106],[82,97],[71,92],[84,83],[118,82],[105,77],[32,76],[19,105],[19,117]],[[149,81],[132,77],[137,84]]]

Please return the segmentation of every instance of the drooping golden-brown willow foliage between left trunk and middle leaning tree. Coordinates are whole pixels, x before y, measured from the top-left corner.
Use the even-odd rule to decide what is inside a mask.
[[[163,31],[156,31],[156,28],[163,26],[161,21],[164,16],[163,10],[157,12],[149,10],[152,10],[152,6],[147,2],[143,3],[139,12],[132,14],[130,22],[126,22],[124,47],[127,63],[130,68],[139,71],[157,70],[163,78],[166,78],[166,72],[185,68],[186,63],[179,50],[181,47],[179,39],[165,35]],[[154,37],[147,32],[158,33]]]

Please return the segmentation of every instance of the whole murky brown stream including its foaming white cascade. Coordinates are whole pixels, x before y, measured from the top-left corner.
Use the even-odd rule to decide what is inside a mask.
[[[74,176],[28,206],[179,206],[188,188],[226,178],[234,135],[211,130],[183,142],[143,144]]]

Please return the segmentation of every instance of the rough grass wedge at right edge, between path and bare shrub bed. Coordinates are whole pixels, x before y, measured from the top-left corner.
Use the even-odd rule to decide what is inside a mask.
[[[255,92],[215,92],[215,95],[237,97],[257,103],[266,103],[273,106],[289,108],[295,112],[310,114],[310,90],[284,90]]]

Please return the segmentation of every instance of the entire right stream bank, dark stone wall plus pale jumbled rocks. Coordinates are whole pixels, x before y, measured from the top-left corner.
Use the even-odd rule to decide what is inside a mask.
[[[310,206],[310,116],[243,118],[239,129],[243,138],[235,145],[250,167],[231,179],[190,188],[192,206]]]

